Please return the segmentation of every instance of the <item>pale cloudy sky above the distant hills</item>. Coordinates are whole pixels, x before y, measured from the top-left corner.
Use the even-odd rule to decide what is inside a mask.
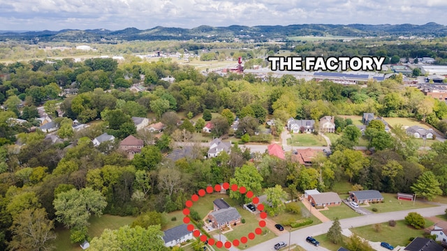
[[[0,0],[0,30],[288,24],[447,25],[446,0]]]

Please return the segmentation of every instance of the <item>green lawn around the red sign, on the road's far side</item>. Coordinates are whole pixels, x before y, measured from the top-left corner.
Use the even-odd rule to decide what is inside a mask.
[[[372,208],[377,208],[378,211],[376,213],[386,213],[386,212],[409,210],[416,208],[427,208],[434,206],[432,204],[427,204],[421,201],[416,201],[413,206],[413,201],[397,200],[396,194],[382,193],[381,195],[383,196],[384,202],[377,204],[369,204],[369,206],[366,207],[369,211],[372,211]]]

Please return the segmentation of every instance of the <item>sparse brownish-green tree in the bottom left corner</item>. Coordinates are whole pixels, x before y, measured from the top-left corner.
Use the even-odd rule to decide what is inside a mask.
[[[51,250],[51,241],[56,238],[52,229],[53,221],[48,220],[44,208],[26,209],[14,217],[13,238],[8,247],[10,250]]]

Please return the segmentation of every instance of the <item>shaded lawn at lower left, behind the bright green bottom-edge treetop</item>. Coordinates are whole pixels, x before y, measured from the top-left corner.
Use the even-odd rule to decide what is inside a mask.
[[[103,215],[101,217],[91,217],[89,227],[89,237],[101,236],[104,229],[119,229],[119,227],[130,225],[135,217],[121,217],[116,215]],[[56,250],[82,250],[78,244],[70,243],[70,230],[64,227],[56,229],[57,238],[54,242]]]

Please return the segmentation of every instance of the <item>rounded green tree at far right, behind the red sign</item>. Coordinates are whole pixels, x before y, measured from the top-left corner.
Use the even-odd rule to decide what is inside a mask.
[[[439,185],[439,181],[433,172],[427,171],[419,176],[416,183],[411,185],[411,190],[420,197],[432,200],[437,195],[442,195],[442,190],[439,188]]]

